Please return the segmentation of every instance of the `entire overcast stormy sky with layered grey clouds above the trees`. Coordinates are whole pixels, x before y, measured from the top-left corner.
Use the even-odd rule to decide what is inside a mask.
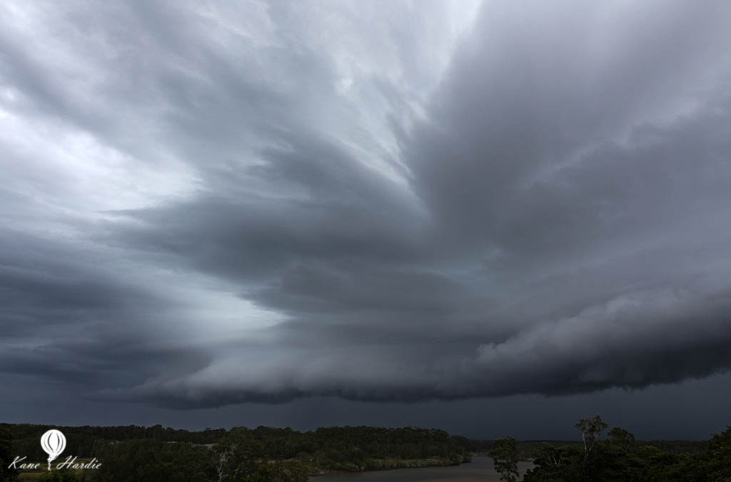
[[[731,418],[731,3],[4,1],[0,418]]]

